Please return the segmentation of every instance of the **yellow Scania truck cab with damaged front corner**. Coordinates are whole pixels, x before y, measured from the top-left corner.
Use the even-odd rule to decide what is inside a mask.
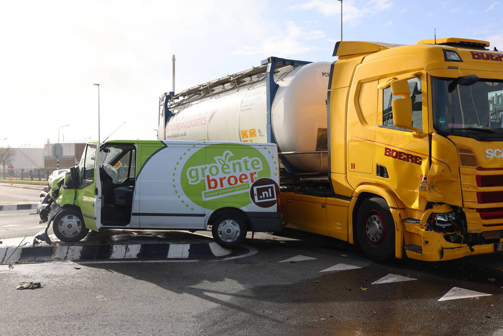
[[[332,193],[282,193],[284,223],[443,261],[503,246],[503,53],[446,38],[338,42],[330,69]]]

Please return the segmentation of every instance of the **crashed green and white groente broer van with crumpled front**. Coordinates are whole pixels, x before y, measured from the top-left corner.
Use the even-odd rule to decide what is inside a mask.
[[[279,162],[271,143],[110,141],[48,182],[37,213],[62,241],[103,229],[205,230],[225,247],[280,231]],[[45,229],[47,238],[47,229]],[[47,240],[47,239],[46,239]]]

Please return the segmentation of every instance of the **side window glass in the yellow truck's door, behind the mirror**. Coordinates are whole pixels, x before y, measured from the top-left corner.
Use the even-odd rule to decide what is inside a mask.
[[[421,78],[411,78],[408,80],[410,88],[410,98],[412,99],[412,126],[423,130],[423,92],[421,87]],[[382,97],[382,125],[386,127],[395,127],[393,123],[393,99],[399,99],[400,96],[393,96],[391,87],[383,90]]]

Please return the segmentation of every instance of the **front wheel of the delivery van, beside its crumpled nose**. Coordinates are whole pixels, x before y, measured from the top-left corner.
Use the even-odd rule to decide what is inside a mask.
[[[71,209],[65,209],[54,216],[52,230],[61,241],[79,241],[85,237],[89,229],[80,214]]]

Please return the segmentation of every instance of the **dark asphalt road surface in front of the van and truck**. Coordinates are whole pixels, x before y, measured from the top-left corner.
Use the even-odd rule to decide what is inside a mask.
[[[37,225],[29,212],[6,211],[0,226],[15,218],[24,236]],[[0,266],[3,332],[503,334],[501,254],[373,263],[355,246],[294,230],[246,244],[258,253],[218,262]],[[350,269],[323,272],[340,264]],[[389,274],[416,280],[372,284]],[[43,288],[16,290],[22,281]],[[438,301],[453,287],[491,295]]]

